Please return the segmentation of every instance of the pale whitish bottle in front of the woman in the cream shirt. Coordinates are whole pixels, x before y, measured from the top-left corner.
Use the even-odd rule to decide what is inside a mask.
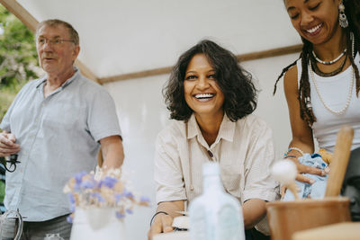
[[[219,164],[203,164],[202,179],[202,195],[189,206],[190,239],[245,240],[240,203],[224,191]]]

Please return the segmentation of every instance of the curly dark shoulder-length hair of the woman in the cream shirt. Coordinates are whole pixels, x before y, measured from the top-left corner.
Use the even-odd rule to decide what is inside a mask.
[[[229,50],[211,40],[202,40],[178,59],[169,80],[163,88],[170,119],[187,121],[193,110],[184,99],[184,78],[189,62],[196,54],[204,54],[215,70],[215,78],[225,96],[223,110],[229,120],[239,120],[257,108],[257,89],[252,76],[238,65]]]

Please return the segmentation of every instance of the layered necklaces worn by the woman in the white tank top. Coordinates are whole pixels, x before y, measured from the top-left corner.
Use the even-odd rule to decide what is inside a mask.
[[[351,40],[352,40],[352,48],[351,48],[351,50],[352,50],[352,55],[354,56],[354,36],[353,36],[353,34],[351,33],[351,35],[350,35],[350,38],[351,38]],[[332,60],[332,61],[329,61],[329,62],[332,62],[331,64],[333,64],[333,63],[335,63],[335,62],[337,62],[338,61],[338,59],[340,59],[344,54],[345,54],[345,52],[347,51],[347,49],[345,49],[341,54],[340,54],[340,56],[338,57],[338,58],[335,58],[334,60]],[[312,51],[312,54],[313,54],[313,56],[314,56],[314,58],[319,62],[319,60],[318,60],[318,58],[316,57],[316,55],[315,55],[315,53]],[[347,60],[347,58],[345,58],[345,61]],[[321,61],[321,60],[320,60]],[[342,64],[342,67],[341,67],[341,69],[344,67],[344,65],[345,65],[345,61],[344,61],[344,63]],[[322,62],[320,62],[320,63],[322,63]],[[328,62],[327,62],[328,63]],[[325,63],[323,63],[323,64],[325,64]],[[341,110],[339,110],[339,111],[335,111],[335,110],[332,110],[330,107],[329,107],[329,105],[324,101],[324,99],[322,98],[322,96],[321,96],[321,94],[320,94],[320,90],[319,90],[319,86],[318,86],[318,84],[317,84],[317,82],[316,82],[316,79],[315,79],[315,76],[314,76],[314,72],[313,72],[313,70],[312,70],[312,66],[313,67],[315,67],[316,66],[316,63],[312,63],[311,64],[311,61],[309,62],[309,69],[310,69],[310,74],[311,74],[311,80],[312,80],[312,82],[313,82],[313,84],[314,84],[314,86],[315,86],[315,90],[316,90],[316,93],[318,93],[318,95],[319,95],[319,98],[320,98],[320,101],[322,102],[322,104],[324,105],[324,107],[328,110],[328,111],[330,111],[330,112],[332,112],[332,113],[334,113],[334,114],[336,114],[336,115],[341,115],[341,114],[344,114],[344,112],[345,111],[347,111],[347,108],[348,108],[348,106],[350,105],[350,102],[351,102],[351,96],[352,96],[352,93],[353,93],[353,86],[354,86],[354,82],[355,82],[355,71],[354,71],[354,67],[351,67],[351,69],[352,69],[352,73],[351,73],[351,80],[350,80],[350,84],[349,84],[349,90],[348,90],[348,93],[347,93],[347,102],[345,103],[345,106],[341,109]],[[337,69],[338,70],[338,69]],[[340,70],[341,71],[341,70]]]

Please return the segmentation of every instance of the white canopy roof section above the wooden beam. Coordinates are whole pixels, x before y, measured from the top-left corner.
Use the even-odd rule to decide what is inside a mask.
[[[204,38],[235,54],[301,42],[282,0],[0,2],[17,2],[38,22],[58,18],[72,23],[80,35],[79,59],[97,78],[172,66],[180,53]]]

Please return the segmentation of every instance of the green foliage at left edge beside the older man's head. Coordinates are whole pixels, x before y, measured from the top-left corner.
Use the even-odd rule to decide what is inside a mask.
[[[38,73],[33,33],[0,4],[0,121],[23,84]]]

